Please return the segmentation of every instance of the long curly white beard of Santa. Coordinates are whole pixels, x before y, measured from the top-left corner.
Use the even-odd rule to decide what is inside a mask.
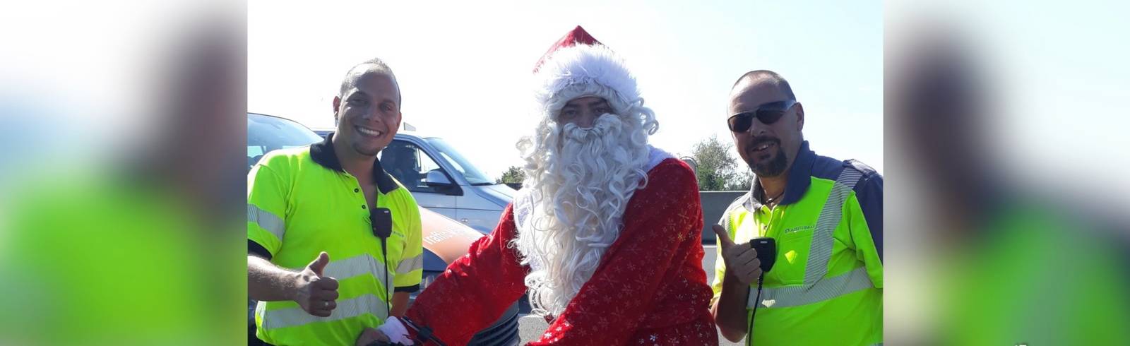
[[[605,114],[590,129],[544,122],[544,153],[527,159],[533,210],[514,243],[530,266],[531,311],[559,315],[600,265],[623,227],[636,189],[646,184],[647,130]],[[541,154],[541,155],[536,155]]]

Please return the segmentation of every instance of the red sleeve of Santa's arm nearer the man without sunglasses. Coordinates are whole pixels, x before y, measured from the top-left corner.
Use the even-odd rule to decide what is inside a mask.
[[[515,235],[513,206],[507,206],[494,232],[451,262],[406,315],[431,328],[444,344],[466,345],[525,293],[528,270],[520,263],[518,249],[510,246]]]

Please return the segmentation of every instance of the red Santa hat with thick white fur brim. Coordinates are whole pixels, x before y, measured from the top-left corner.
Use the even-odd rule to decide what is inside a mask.
[[[621,116],[632,104],[642,104],[635,77],[624,60],[581,26],[554,43],[533,71],[536,101],[542,115],[550,119],[582,96],[605,98]]]

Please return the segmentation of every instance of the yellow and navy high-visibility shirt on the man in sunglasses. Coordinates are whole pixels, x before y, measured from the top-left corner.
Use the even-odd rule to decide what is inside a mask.
[[[855,161],[818,156],[806,141],[781,201],[762,201],[755,180],[719,222],[737,243],[768,236],[777,246],[759,301],[750,285],[747,344],[881,344],[883,176]],[[718,258],[715,301],[725,275],[721,248]]]

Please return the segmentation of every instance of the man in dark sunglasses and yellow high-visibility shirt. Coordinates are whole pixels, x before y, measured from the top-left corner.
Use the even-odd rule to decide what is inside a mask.
[[[809,149],[805,109],[775,72],[741,76],[728,110],[756,179],[714,226],[712,311],[722,335],[748,334],[753,345],[883,343],[883,176]],[[776,242],[764,277],[754,237]]]

